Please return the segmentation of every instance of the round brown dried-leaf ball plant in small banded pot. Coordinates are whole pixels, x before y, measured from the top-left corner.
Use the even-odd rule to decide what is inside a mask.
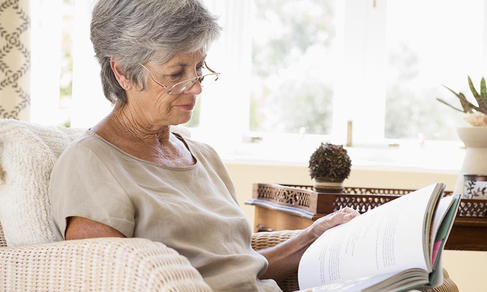
[[[350,156],[342,145],[321,143],[309,159],[309,172],[320,193],[342,193],[351,167]]]

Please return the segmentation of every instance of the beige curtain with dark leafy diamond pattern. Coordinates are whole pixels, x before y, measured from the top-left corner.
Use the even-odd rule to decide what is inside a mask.
[[[0,118],[30,118],[29,0],[0,1]]]

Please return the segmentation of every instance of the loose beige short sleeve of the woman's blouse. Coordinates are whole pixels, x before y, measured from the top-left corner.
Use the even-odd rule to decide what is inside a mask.
[[[51,173],[51,219],[58,239],[65,239],[66,219],[84,217],[132,237],[134,208],[112,174],[110,161],[83,145],[69,146]]]

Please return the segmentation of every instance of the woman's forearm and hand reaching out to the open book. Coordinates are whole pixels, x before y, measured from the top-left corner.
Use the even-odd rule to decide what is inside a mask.
[[[313,225],[304,229],[296,237],[289,238],[274,247],[258,251],[269,262],[269,266],[261,279],[273,279],[279,283],[290,274],[298,271],[301,256],[311,243],[326,230],[348,222],[358,215],[360,213],[352,208],[342,208],[316,220]]]

